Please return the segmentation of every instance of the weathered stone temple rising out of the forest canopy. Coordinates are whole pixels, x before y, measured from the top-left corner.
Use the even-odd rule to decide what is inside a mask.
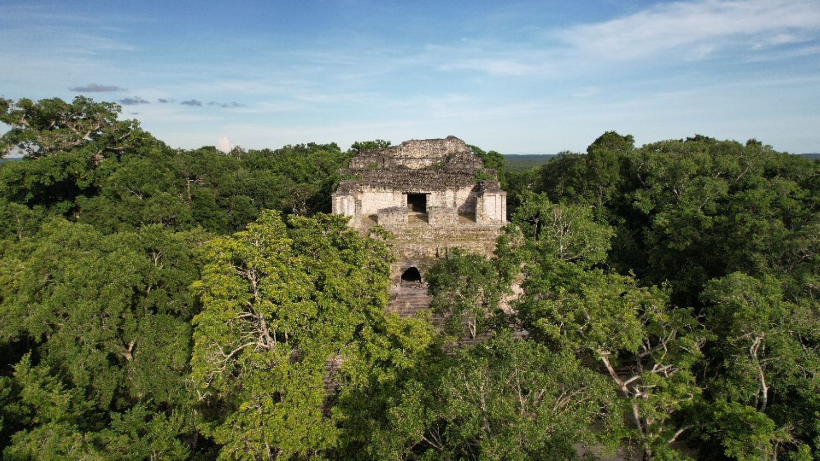
[[[449,249],[491,255],[507,223],[507,194],[493,170],[454,136],[413,139],[359,153],[342,170],[333,212],[350,226],[393,236],[389,310],[411,315],[430,303],[424,271]]]

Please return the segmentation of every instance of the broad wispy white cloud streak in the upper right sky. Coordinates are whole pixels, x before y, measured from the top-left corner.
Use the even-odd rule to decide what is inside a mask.
[[[608,21],[544,28],[526,41],[462,39],[427,44],[416,59],[439,71],[566,77],[622,62],[647,62],[657,68],[664,63],[701,61],[729,50],[740,62],[769,48],[778,52],[784,52],[779,47],[786,45],[811,48],[818,35],[817,0],[695,0],[660,3]]]

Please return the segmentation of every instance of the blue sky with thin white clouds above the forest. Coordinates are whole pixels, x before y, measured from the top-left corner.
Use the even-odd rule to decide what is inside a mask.
[[[2,2],[0,95],[77,94],[181,148],[617,130],[820,152],[820,2]]]

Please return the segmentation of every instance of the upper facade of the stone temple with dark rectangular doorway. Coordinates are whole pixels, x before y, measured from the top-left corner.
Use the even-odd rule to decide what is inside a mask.
[[[495,171],[454,136],[365,151],[343,173],[348,180],[333,194],[333,212],[360,229],[497,228],[506,221],[507,197]]]

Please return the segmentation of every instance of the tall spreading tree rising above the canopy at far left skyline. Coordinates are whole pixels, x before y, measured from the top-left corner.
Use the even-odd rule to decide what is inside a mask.
[[[0,136],[0,152],[25,156],[0,168],[0,196],[71,217],[75,200],[96,194],[122,157],[167,148],[137,121],[118,121],[120,110],[84,97],[73,103],[0,98],[0,121],[11,127]]]

